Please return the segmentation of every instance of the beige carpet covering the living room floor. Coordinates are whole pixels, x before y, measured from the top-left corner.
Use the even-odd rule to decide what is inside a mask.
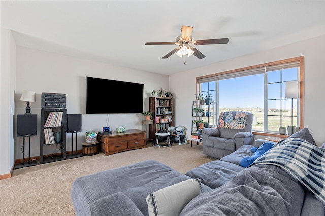
[[[109,156],[103,153],[16,169],[13,177],[0,180],[0,215],[75,215],[71,185],[81,176],[154,159],[182,172],[214,160],[202,146],[147,145],[145,149]]]

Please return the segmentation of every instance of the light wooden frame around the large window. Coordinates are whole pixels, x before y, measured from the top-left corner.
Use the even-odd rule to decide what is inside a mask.
[[[280,65],[280,64],[288,64],[288,63],[293,63],[293,62],[299,62],[299,68],[300,68],[300,74],[298,77],[299,80],[299,127],[304,128],[304,56],[299,56],[299,57],[294,57],[294,58],[289,58],[289,59],[284,59],[284,60],[279,60],[279,61],[273,61],[273,62],[268,62],[264,64],[259,64],[259,65],[254,65],[254,66],[249,66],[249,67],[244,67],[244,68],[238,68],[234,70],[229,70],[229,71],[223,71],[219,73],[214,73],[214,74],[209,74],[205,76],[200,76],[196,77],[196,94],[200,93],[200,83],[202,83],[201,80],[207,80],[207,79],[212,79],[213,77],[217,78],[222,77],[222,76],[236,76],[236,74],[243,74],[243,71],[254,71],[255,69],[259,69],[261,67],[270,67],[270,66],[275,66],[275,65]],[[248,75],[248,74],[247,74]],[[218,94],[218,93],[217,93]],[[261,132],[261,131],[252,131],[254,135],[263,135],[263,136],[276,136],[276,137],[287,137],[287,135],[280,135],[277,133],[271,133],[271,132]]]

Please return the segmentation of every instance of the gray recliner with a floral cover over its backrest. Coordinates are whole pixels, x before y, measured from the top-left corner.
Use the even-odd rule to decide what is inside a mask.
[[[237,118],[238,113],[243,115],[243,112],[239,111],[220,113],[217,128],[202,130],[203,154],[220,159],[236,151],[242,145],[253,144],[252,123],[254,115],[249,112],[245,113],[245,119],[241,117],[241,122],[238,124],[240,121]],[[236,116],[236,119],[228,116]],[[231,119],[233,120],[231,121]],[[243,122],[245,124],[242,124]]]

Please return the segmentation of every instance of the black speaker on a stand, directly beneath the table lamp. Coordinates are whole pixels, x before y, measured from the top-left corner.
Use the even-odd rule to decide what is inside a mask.
[[[37,135],[37,115],[17,115],[17,136]]]

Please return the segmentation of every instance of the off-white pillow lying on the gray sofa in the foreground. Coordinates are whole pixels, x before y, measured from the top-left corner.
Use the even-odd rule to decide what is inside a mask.
[[[149,216],[178,216],[187,203],[200,193],[201,180],[197,178],[153,192],[146,198]]]

